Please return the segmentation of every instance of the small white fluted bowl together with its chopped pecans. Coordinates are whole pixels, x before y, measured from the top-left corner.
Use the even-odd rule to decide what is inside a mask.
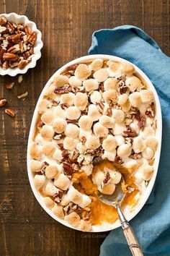
[[[0,14],[0,74],[14,77],[36,66],[42,34],[35,22],[14,12]]]

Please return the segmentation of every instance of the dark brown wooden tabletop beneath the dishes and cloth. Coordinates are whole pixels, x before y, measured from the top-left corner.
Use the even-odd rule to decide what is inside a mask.
[[[85,234],[50,218],[35,200],[27,178],[27,138],[37,98],[50,76],[66,62],[87,54],[100,28],[132,24],[146,30],[165,54],[169,48],[169,0],[0,0],[1,13],[25,14],[42,31],[42,58],[22,84],[1,77],[0,94],[17,110],[0,109],[0,255],[97,256],[107,233]],[[13,90],[7,82],[15,81]],[[24,101],[17,95],[28,92]]]

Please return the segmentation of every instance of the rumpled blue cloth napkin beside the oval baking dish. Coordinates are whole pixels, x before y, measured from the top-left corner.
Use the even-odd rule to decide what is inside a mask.
[[[161,161],[154,202],[147,204],[130,224],[146,256],[170,255],[170,58],[143,30],[131,25],[99,30],[92,35],[89,54],[110,54],[133,62],[156,88],[163,116]],[[109,233],[101,256],[131,255],[121,228]]]

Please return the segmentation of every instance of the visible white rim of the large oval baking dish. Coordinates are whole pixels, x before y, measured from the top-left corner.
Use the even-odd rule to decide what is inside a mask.
[[[119,57],[116,57],[116,56],[105,55],[105,54],[96,54],[96,55],[83,56],[79,59],[75,59],[75,60],[69,62],[68,64],[64,65],[60,69],[58,69],[58,71],[55,72],[53,74],[53,76],[50,77],[50,80],[48,80],[48,82],[46,83],[45,88],[42,90],[42,93],[40,94],[40,98],[37,101],[37,106],[35,108],[35,111],[34,111],[34,114],[33,114],[33,117],[32,117],[32,123],[31,123],[31,127],[30,127],[30,135],[29,135],[28,145],[27,145],[27,172],[28,172],[28,177],[29,177],[29,180],[30,180],[30,185],[32,187],[32,192],[34,193],[37,201],[40,203],[42,208],[52,218],[54,218],[55,221],[58,221],[58,222],[62,223],[63,225],[68,226],[71,229],[76,229],[76,228],[73,228],[66,221],[64,221],[61,218],[58,218],[57,216],[55,216],[53,214],[53,212],[45,206],[44,202],[42,201],[42,196],[40,195],[38,190],[35,188],[34,181],[33,181],[34,174],[32,174],[32,171],[30,169],[30,143],[32,142],[32,138],[34,137],[36,121],[37,121],[37,116],[38,116],[38,106],[40,104],[40,101],[42,101],[43,95],[45,94],[45,90],[48,88],[48,85],[50,85],[50,83],[53,81],[53,79],[55,78],[55,76],[57,74],[61,74],[64,70],[66,70],[66,67],[71,66],[73,64],[86,63],[86,62],[92,61],[93,59],[96,59],[96,58],[113,59],[113,60],[117,60],[117,61],[129,62],[129,61],[126,61],[125,59],[122,59],[122,58],[119,58]],[[156,101],[156,119],[157,119],[156,138],[158,140],[158,148],[157,148],[156,153],[155,153],[155,161],[154,161],[154,164],[153,164],[153,167],[154,167],[153,176],[152,176],[150,182],[148,183],[148,187],[146,188],[146,191],[143,193],[142,196],[140,196],[140,198],[138,200],[138,204],[135,205],[133,210],[130,210],[128,207],[123,209],[123,211],[125,213],[125,217],[127,218],[128,221],[130,221],[132,218],[134,218],[140,212],[140,210],[146,204],[146,201],[148,200],[148,197],[151,194],[151,191],[153,189],[153,185],[155,183],[156,175],[157,175],[157,172],[158,172],[158,163],[159,163],[159,158],[160,158],[160,154],[161,154],[161,135],[162,135],[161,106],[160,106],[160,103],[159,103],[159,99],[158,99],[158,95],[156,93],[156,90],[153,87],[153,84],[152,84],[151,80],[148,79],[146,74],[144,74],[142,72],[142,70],[140,70],[134,64],[133,64],[133,66],[135,67],[135,73],[138,74],[138,76],[144,82],[146,82],[146,84],[148,85],[148,88],[151,88],[151,90],[153,90],[153,94],[154,94],[155,101]],[[112,229],[117,229],[118,227],[120,227],[120,221],[118,221],[118,220],[113,224],[104,222],[104,223],[102,223],[101,226],[93,226],[91,232],[110,231]],[[79,230],[79,229],[76,229],[76,230]]]

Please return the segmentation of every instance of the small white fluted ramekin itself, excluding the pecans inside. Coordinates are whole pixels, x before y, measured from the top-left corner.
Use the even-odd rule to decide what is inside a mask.
[[[19,69],[18,67],[14,67],[14,68],[9,67],[8,69],[2,69],[2,67],[0,67],[0,75],[9,74],[11,77],[14,77],[17,74],[25,74],[28,69],[32,69],[33,67],[36,66],[37,60],[40,59],[41,57],[40,50],[43,46],[43,43],[41,40],[42,34],[40,30],[37,29],[35,22],[28,20],[28,18],[25,15],[19,15],[17,13],[12,12],[9,14],[5,14],[5,13],[0,14],[0,17],[6,17],[6,19],[9,20],[9,22],[14,22],[17,24],[25,24],[28,27],[31,27],[32,31],[37,33],[37,40],[34,45],[34,56],[32,56],[32,60],[30,61],[30,63],[28,63],[23,69]]]

